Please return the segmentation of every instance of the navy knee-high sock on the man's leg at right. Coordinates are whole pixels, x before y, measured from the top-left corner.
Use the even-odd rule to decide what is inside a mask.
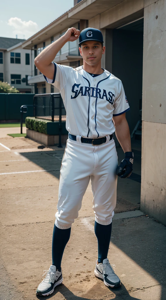
[[[95,235],[98,239],[98,263],[107,258],[111,238],[112,223],[101,225],[95,221]]]

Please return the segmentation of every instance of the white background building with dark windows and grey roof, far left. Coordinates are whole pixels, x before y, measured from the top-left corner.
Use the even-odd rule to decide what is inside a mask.
[[[25,40],[0,38],[0,81],[8,82],[20,93],[31,93],[33,86],[28,85],[32,75],[33,50],[22,48]],[[33,62],[34,65],[34,62]]]

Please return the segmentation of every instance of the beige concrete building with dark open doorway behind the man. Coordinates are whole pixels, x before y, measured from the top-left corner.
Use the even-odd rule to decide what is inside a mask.
[[[78,2],[78,3],[77,3]],[[166,224],[166,1],[74,0],[74,7],[23,42],[34,56],[69,27],[86,27],[103,33],[102,67],[123,82],[130,111],[130,132],[142,123],[141,210]],[[66,44],[55,62],[82,64],[77,42]],[[51,92],[34,68],[29,83],[38,92]],[[52,88],[53,91],[53,88]],[[56,90],[57,91],[57,90]],[[54,92],[55,88],[54,88]]]

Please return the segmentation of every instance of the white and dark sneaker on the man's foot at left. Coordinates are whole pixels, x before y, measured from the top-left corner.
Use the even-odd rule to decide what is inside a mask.
[[[44,270],[47,273],[46,277],[39,284],[36,294],[39,296],[48,296],[54,292],[54,288],[63,281],[62,269],[61,272],[56,271],[56,267],[51,265],[49,270]],[[43,274],[43,276],[45,275]]]

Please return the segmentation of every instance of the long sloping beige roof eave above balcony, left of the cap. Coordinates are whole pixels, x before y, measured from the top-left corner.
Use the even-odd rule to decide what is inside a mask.
[[[31,38],[22,43],[22,48],[24,49],[32,49],[34,45],[40,44],[41,42],[51,38],[58,34],[59,32],[63,32],[66,28],[72,27],[75,23],[79,22],[80,19],[70,19],[68,18],[68,12],[64,13],[58,19],[53,21],[51,24],[37,32]]]

